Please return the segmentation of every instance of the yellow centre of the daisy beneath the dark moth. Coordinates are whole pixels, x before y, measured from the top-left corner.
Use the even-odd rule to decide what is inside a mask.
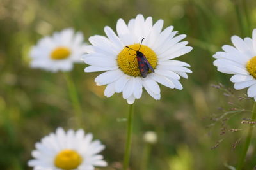
[[[130,48],[134,50],[138,50],[140,48],[140,44],[129,45]],[[117,64],[120,69],[129,76],[141,76],[140,69],[138,66],[138,61],[136,59],[136,51],[131,50],[129,48],[124,48],[117,57]],[[157,66],[157,56],[156,53],[149,48],[148,46],[141,45],[140,52],[142,52],[147,58],[150,65],[156,69]],[[148,73],[151,73],[148,70]]]

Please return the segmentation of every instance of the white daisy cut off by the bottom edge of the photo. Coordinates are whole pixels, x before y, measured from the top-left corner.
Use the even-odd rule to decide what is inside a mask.
[[[93,170],[94,166],[107,166],[98,155],[104,149],[100,141],[92,141],[92,134],[84,134],[82,129],[67,133],[59,127],[35,144],[36,150],[28,165],[34,170]]]

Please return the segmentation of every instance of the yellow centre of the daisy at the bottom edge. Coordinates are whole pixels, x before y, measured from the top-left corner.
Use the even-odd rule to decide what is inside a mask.
[[[74,150],[62,150],[56,155],[54,164],[64,170],[76,169],[82,162],[82,157]]]

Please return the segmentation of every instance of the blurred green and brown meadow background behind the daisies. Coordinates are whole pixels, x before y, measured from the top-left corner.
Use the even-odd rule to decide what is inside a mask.
[[[193,74],[181,80],[183,90],[162,86],[160,101],[147,92],[136,101],[131,169],[141,167],[143,134],[148,130],[155,131],[159,138],[152,145],[148,170],[236,166],[248,128],[241,120],[250,117],[253,101],[239,101],[246,90],[232,94],[225,88],[211,87],[221,82],[232,89],[230,76],[218,73],[212,65],[212,55],[222,45],[230,45],[234,34],[251,37],[256,24],[255,0],[1,0],[1,170],[30,169],[27,162],[36,141],[59,126],[77,129],[63,73],[31,69],[31,46],[66,27],[82,31],[86,40],[94,34],[104,35],[104,26],[115,29],[118,18],[128,22],[138,13],[152,16],[154,22],[163,19],[164,28],[173,25],[175,31],[188,35],[186,40],[194,49],[179,60],[191,64]],[[70,73],[83,108],[83,128],[106,145],[102,155],[109,166],[102,169],[118,169],[126,129],[125,122],[118,120],[127,116],[129,106],[121,94],[104,97],[104,87],[94,83],[99,73],[84,73],[84,67],[76,64]],[[228,130],[236,128],[239,131]],[[255,139],[256,135],[244,169],[256,165]]]

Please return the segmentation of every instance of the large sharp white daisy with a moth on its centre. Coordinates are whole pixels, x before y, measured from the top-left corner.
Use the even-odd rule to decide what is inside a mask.
[[[173,31],[173,26],[164,31],[162,28],[163,20],[158,20],[153,25],[152,17],[144,19],[143,15],[137,15],[128,25],[119,19],[116,24],[117,35],[107,26],[104,28],[107,37],[96,35],[89,38],[92,45],[86,46],[85,51],[88,54],[83,55],[83,60],[91,66],[84,71],[106,71],[95,78],[97,85],[107,85],[104,92],[106,97],[122,92],[129,104],[140,99],[143,87],[150,96],[159,100],[160,88],[157,83],[172,89],[182,89],[180,76],[188,78],[186,73],[192,72],[186,68],[189,64],[173,59],[190,52],[192,48],[186,46],[188,41],[180,42],[186,35],[175,36],[177,31]],[[143,38],[145,39],[140,48]],[[140,48],[154,73],[146,67],[148,74],[143,78],[136,51],[125,46],[134,50]]]

